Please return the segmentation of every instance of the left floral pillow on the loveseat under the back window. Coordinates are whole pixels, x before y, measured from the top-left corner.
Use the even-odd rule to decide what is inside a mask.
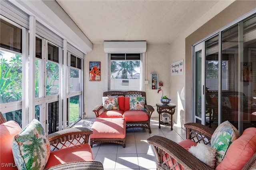
[[[104,110],[119,110],[118,96],[102,97],[102,104]]]

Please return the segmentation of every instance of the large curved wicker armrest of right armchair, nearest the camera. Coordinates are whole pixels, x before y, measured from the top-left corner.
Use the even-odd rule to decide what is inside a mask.
[[[210,166],[201,162],[198,158],[193,156],[186,149],[171,141],[165,137],[153,136],[148,138],[148,144],[154,146],[156,152],[157,163],[169,169],[165,163],[163,163],[162,156],[169,154],[170,157],[174,158],[179,164],[181,164],[186,170],[214,170]],[[166,161],[167,162],[167,161]]]

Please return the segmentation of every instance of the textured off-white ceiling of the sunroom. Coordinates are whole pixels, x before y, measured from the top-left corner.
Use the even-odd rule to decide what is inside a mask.
[[[210,0],[56,0],[92,43],[170,44],[216,2]]]

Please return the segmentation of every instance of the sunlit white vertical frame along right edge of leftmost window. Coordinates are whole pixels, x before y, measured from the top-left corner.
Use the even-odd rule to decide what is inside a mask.
[[[28,125],[28,72],[29,72],[29,64],[28,64],[28,30],[22,27],[22,128]]]

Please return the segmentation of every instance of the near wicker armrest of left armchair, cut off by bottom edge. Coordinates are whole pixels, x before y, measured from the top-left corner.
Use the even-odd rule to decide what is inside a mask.
[[[47,168],[45,170],[104,170],[101,162],[71,162]]]

